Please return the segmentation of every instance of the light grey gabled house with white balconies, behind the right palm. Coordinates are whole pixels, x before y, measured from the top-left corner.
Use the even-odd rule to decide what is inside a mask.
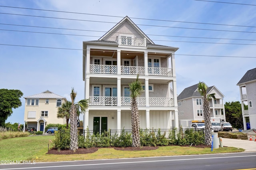
[[[225,122],[224,95],[215,86],[208,87],[207,93],[215,93],[216,97],[210,98],[211,117],[220,118],[221,122]],[[179,120],[204,121],[203,104],[204,97],[198,92],[198,84],[185,88],[178,95]]]

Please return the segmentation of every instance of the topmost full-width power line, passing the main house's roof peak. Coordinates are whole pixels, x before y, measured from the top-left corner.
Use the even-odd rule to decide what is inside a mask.
[[[124,18],[123,16],[88,14],[88,13],[81,13],[81,12],[68,12],[68,11],[57,11],[57,10],[43,10],[43,9],[36,9],[36,8],[22,8],[22,7],[14,7],[14,6],[0,6],[0,7],[6,7],[6,8],[20,8],[20,9],[28,9],[28,10],[41,10],[41,11],[49,11],[49,12],[63,12],[63,13],[70,13],[70,14],[84,14],[84,15],[93,15],[93,16],[106,16],[106,17]],[[129,17],[129,18],[130,18],[130,17]],[[219,26],[237,26],[237,27],[251,27],[251,28],[256,28],[256,26],[240,26],[240,25],[214,24],[214,23],[204,23],[204,22],[185,22],[185,21],[158,20],[158,19],[132,18],[132,17],[131,17],[131,19],[152,20],[152,21],[164,21],[164,22],[180,22],[180,23],[189,23],[189,24],[208,24],[208,25],[219,25]]]

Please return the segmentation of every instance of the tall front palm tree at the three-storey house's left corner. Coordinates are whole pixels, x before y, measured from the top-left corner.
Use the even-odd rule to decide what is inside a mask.
[[[77,121],[78,121],[78,114],[77,111],[80,109],[82,112],[85,112],[88,108],[88,99],[82,99],[75,103],[76,99],[76,92],[74,88],[72,88],[71,93],[71,112],[70,112],[70,150],[78,149],[78,128],[77,128]]]

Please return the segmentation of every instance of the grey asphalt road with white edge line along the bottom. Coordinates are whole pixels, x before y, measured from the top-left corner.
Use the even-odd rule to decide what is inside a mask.
[[[2,170],[238,170],[256,169],[256,152],[0,165]]]

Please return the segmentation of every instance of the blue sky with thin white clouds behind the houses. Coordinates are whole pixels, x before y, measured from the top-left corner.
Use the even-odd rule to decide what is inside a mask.
[[[24,93],[23,97],[50,90],[70,100],[69,93],[74,87],[78,93],[76,101],[83,99],[82,42],[98,40],[128,16],[154,43],[180,48],[175,56],[178,94],[184,88],[204,81],[208,86],[215,85],[225,95],[224,102],[240,101],[236,84],[246,71],[256,67],[256,3],[248,0],[218,1],[238,4],[197,0],[0,0],[0,89],[19,89]],[[7,122],[24,121],[23,97],[22,107],[14,109]]]

